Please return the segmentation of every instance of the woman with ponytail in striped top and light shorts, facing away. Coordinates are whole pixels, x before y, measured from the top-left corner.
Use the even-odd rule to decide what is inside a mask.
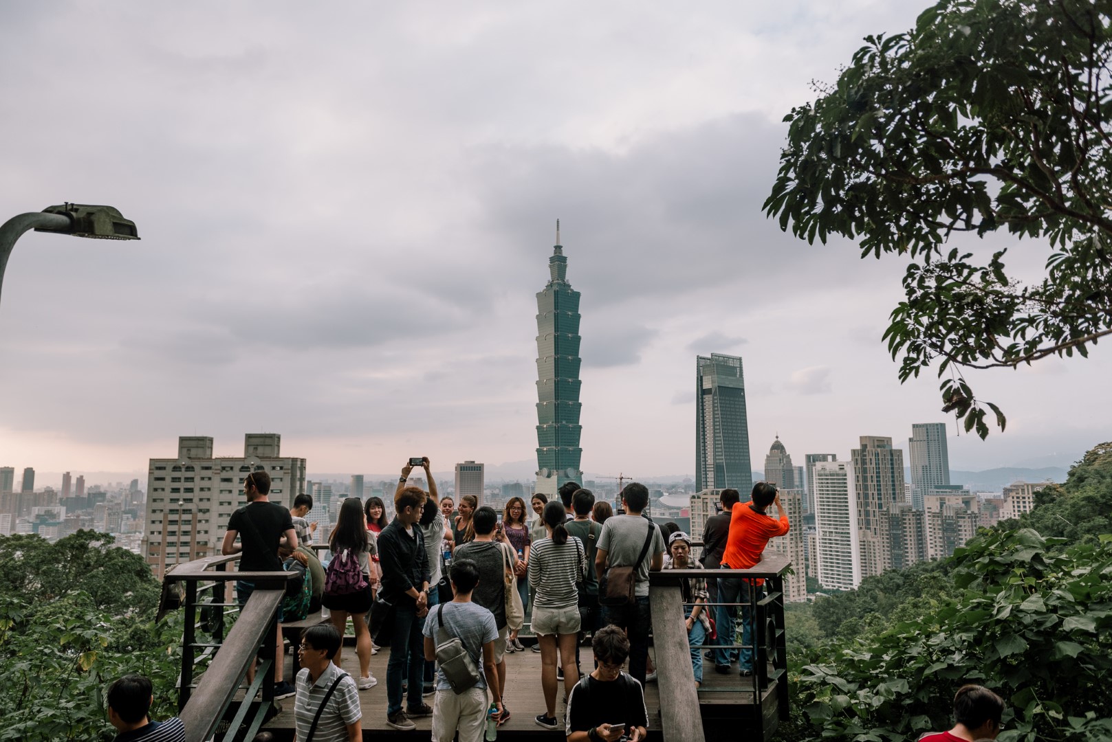
[[[567,511],[564,503],[553,500],[540,515],[547,538],[533,544],[529,559],[529,584],[536,590],[533,600],[533,631],[540,645],[540,688],[545,694],[545,713],[537,714],[537,725],[558,729],[556,721],[556,648],[564,665],[564,690],[570,695],[579,682],[575,665],[575,644],[579,636],[579,591],[586,550],[564,527]]]

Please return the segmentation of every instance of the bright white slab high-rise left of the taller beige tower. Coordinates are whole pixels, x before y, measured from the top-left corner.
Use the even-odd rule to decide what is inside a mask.
[[[853,463],[814,463],[815,573],[830,590],[852,590],[861,584],[861,544],[857,492]]]

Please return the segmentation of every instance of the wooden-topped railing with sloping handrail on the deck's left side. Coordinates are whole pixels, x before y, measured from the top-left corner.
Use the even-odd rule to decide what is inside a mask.
[[[185,629],[178,708],[187,742],[224,739],[218,728],[225,721],[228,723],[227,739],[250,740],[276,711],[274,663],[282,661],[282,656],[275,655],[278,606],[285,596],[286,581],[295,579],[297,573],[227,571],[227,565],[238,559],[239,554],[235,554],[187,562],[177,565],[162,580],[160,616],[176,608],[177,601],[168,601],[167,596],[173,594],[179,583],[183,588],[180,608],[185,611]],[[226,600],[227,584],[238,580],[255,583],[255,591],[241,608]],[[199,600],[205,593],[210,593],[210,598]],[[200,624],[199,610],[206,614]],[[225,636],[225,615],[237,610],[236,624]],[[197,641],[198,630],[208,633],[211,641]],[[254,682],[237,703],[237,691],[256,656],[264,660],[256,669]],[[195,684],[196,666],[201,658],[208,659],[209,664]],[[229,713],[230,720],[227,719]]]

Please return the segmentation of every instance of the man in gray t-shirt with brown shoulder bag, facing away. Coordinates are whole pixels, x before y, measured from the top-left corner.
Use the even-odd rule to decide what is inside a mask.
[[[645,548],[648,537],[648,552],[634,574],[633,603],[625,605],[603,605],[603,624],[614,624],[626,630],[629,636],[629,675],[645,684],[645,668],[648,664],[648,631],[652,616],[648,611],[648,572],[664,565],[664,538],[641,512],[648,504],[648,489],[644,484],[631,482],[622,490],[625,515],[614,515],[603,523],[595,554],[595,574],[599,579],[599,600],[603,601],[602,579],[610,566],[634,566]],[[649,534],[652,535],[649,537]]]

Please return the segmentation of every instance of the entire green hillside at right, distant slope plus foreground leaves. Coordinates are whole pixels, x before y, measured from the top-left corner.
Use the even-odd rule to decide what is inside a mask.
[[[794,606],[782,735],[915,739],[949,729],[954,691],[976,682],[1009,703],[1005,742],[1112,738],[1110,522],[1103,443],[1031,513],[982,530],[951,559]]]

